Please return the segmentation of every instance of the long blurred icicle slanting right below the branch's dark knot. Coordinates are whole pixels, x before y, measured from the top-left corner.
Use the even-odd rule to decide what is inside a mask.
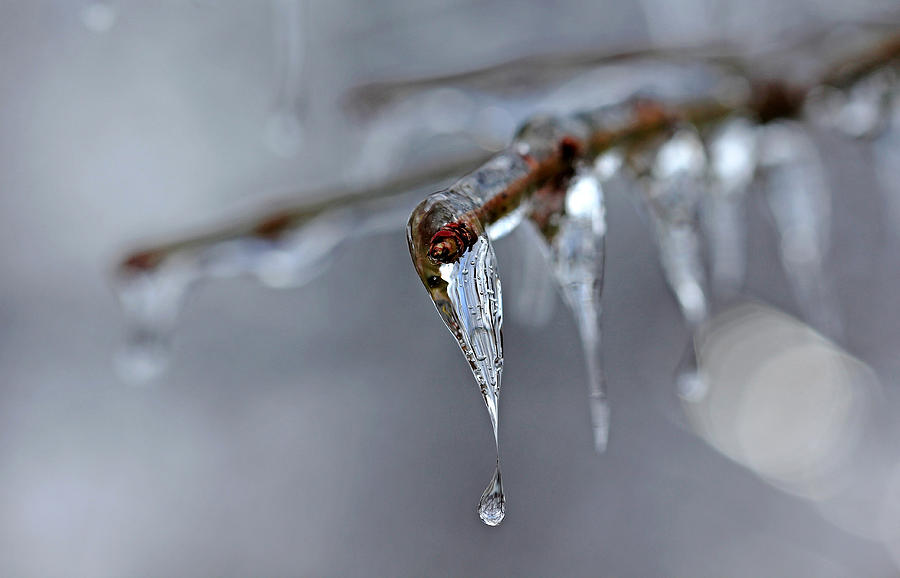
[[[829,245],[831,196],[815,143],[796,123],[766,125],[761,167],[775,220],[781,261],[807,319],[832,338],[841,320],[823,271]]]

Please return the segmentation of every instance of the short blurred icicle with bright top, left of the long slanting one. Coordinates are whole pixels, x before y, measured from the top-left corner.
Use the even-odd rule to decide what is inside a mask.
[[[744,282],[747,264],[747,190],[757,164],[757,128],[749,120],[725,122],[712,135],[709,148],[709,194],[701,201],[710,278],[718,297],[731,296]]]

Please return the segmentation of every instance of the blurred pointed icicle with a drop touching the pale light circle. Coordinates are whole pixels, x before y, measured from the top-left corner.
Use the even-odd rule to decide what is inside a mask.
[[[694,332],[709,315],[698,216],[707,191],[706,174],[706,152],[699,135],[693,128],[682,128],[659,145],[644,175],[660,264],[691,332],[675,375],[679,395],[688,399],[702,397],[706,391],[693,341]]]

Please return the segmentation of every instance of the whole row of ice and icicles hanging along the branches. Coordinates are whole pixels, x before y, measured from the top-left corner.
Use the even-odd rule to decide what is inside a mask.
[[[665,103],[716,97],[721,80],[693,86],[691,94],[659,98]],[[900,182],[900,90],[896,65],[888,63],[850,86],[810,93],[798,119],[763,123],[737,112],[702,125],[675,123],[589,158],[573,154],[565,178],[486,216],[488,204],[500,203],[536,163],[559,155],[567,139],[584,143],[590,134],[633,114],[636,103],[646,98],[647,87],[640,88],[615,105],[532,119],[507,149],[448,189],[429,195],[409,219],[407,236],[417,272],[468,361],[490,415],[497,463],[478,504],[487,525],[499,524],[506,511],[498,437],[503,305],[494,241],[520,224],[537,232],[584,346],[594,444],[602,451],[610,422],[600,349],[605,196],[621,191],[645,207],[666,281],[694,329],[708,319],[714,302],[742,285],[743,213],[748,192],[758,188],[774,217],[782,263],[798,304],[811,324],[836,337],[839,317],[822,270],[830,201],[810,127],[828,125],[869,139],[885,188],[900,194],[895,188]],[[165,367],[177,314],[198,281],[252,275],[271,286],[297,286],[318,274],[353,237],[399,228],[413,203],[408,194],[356,200],[295,215],[277,234],[236,231],[146,253],[140,256],[143,262],[132,258],[117,277],[129,321],[121,369],[142,380]],[[676,371],[676,383],[686,400],[704,396],[691,345]]]

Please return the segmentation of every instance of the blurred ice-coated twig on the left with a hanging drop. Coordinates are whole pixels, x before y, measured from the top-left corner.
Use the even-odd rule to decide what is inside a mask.
[[[289,223],[273,219],[256,230],[133,255],[113,279],[126,323],[117,372],[132,384],[162,375],[170,363],[179,314],[198,283],[251,276],[272,288],[301,286],[349,242],[393,227],[411,204],[412,197],[405,195]]]

